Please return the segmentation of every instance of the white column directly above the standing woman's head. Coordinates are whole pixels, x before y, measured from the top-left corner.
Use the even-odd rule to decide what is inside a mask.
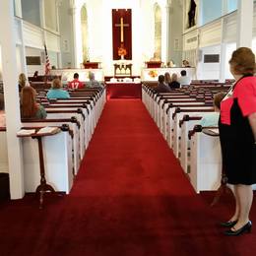
[[[238,0],[236,46],[252,45],[253,0]]]

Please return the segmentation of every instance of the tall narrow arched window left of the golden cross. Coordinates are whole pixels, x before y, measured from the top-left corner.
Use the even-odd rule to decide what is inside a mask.
[[[88,15],[87,8],[84,5],[81,9],[81,30],[82,30],[82,48],[83,61],[89,61],[89,39],[88,39]]]

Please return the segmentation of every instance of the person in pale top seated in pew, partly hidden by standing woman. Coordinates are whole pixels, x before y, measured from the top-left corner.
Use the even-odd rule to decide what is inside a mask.
[[[224,99],[225,94],[223,92],[214,96],[214,108],[215,112],[205,116],[202,118],[200,125],[202,127],[217,127],[219,118],[220,118],[220,111],[221,111],[221,102]]]

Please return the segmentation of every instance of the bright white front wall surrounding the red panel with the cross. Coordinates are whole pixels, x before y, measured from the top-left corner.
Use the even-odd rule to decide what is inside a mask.
[[[91,61],[100,61],[104,75],[113,75],[112,60],[112,9],[132,9],[132,60],[133,75],[140,75],[141,67],[154,53],[154,5],[158,3],[162,12],[161,56],[166,56],[166,0],[78,0],[76,8],[77,66],[83,61],[81,36],[81,7],[88,10],[89,51]]]

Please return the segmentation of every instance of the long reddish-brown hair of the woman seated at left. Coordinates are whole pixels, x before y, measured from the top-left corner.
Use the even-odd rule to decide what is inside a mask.
[[[21,114],[22,118],[32,118],[38,110],[35,102],[36,92],[32,87],[24,87],[22,90]]]

